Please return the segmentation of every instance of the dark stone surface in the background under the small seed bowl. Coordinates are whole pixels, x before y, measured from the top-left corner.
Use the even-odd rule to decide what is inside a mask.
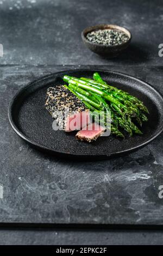
[[[162,65],[158,45],[161,0],[1,0],[2,64]],[[92,4],[93,3],[93,4]],[[133,39],[115,59],[88,50],[80,33],[88,26],[111,23],[128,28]]]

